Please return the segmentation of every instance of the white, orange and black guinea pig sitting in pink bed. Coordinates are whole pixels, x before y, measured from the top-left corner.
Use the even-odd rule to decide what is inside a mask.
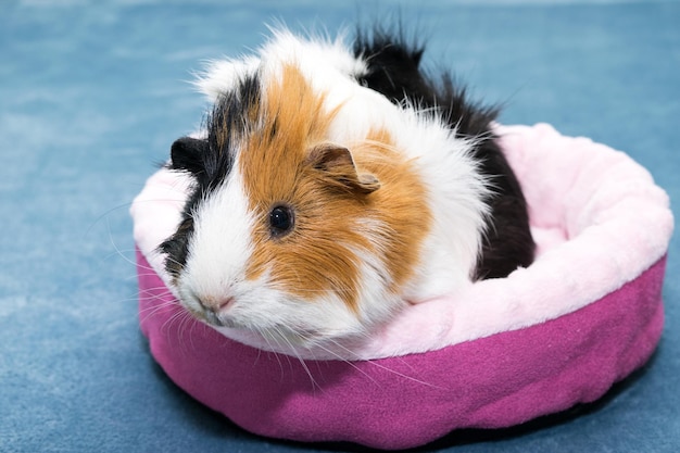
[[[172,146],[192,187],[160,246],[191,314],[308,347],[531,264],[496,109],[428,76],[423,51],[380,29],[353,46],[280,29],[199,77],[213,106]]]

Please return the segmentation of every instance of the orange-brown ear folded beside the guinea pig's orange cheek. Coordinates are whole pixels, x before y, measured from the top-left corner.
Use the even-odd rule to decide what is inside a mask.
[[[322,143],[313,147],[307,154],[306,162],[324,174],[329,184],[355,190],[361,193],[372,193],[380,188],[380,181],[368,173],[358,173],[352,152],[339,144]]]

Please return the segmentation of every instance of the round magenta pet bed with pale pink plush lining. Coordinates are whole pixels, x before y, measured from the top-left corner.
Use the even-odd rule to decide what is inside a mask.
[[[140,324],[154,358],[249,431],[381,449],[599,399],[660,337],[667,196],[626,154],[589,139],[547,125],[498,133],[529,204],[536,262],[410,306],[351,353],[285,355],[184,313],[155,249],[178,222],[187,181],[159,171],[131,207]]]

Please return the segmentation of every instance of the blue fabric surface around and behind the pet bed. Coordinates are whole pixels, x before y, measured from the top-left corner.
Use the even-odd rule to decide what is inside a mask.
[[[285,5],[284,5],[285,4]],[[379,1],[0,4],[0,451],[323,452],[249,435],[178,390],[138,329],[129,201],[201,121],[187,80],[266,23],[331,34]],[[680,3],[401,3],[507,124],[552,123],[627,151],[680,202]],[[465,431],[424,451],[680,451],[680,244],[650,365],[577,413]]]

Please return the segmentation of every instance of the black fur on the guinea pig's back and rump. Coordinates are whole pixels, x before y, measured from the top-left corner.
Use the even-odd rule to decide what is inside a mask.
[[[491,206],[491,225],[482,244],[475,278],[506,277],[518,266],[533,261],[534,242],[529,229],[527,202],[519,181],[491,130],[499,110],[470,102],[465,87],[450,74],[432,80],[420,68],[424,47],[410,45],[403,34],[376,29],[361,33],[354,53],[365,59],[367,74],[358,83],[378,91],[395,104],[404,101],[417,108],[433,110],[455,130],[457,137],[475,137],[474,150],[480,168],[494,188],[487,202]]]

